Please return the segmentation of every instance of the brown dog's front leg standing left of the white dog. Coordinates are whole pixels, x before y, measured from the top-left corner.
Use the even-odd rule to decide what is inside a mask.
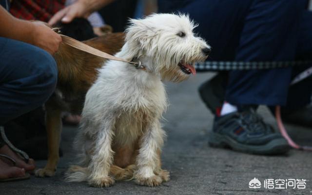
[[[48,162],[43,169],[35,171],[39,177],[54,176],[59,161],[59,141],[62,128],[61,111],[46,107],[46,129],[48,137]]]

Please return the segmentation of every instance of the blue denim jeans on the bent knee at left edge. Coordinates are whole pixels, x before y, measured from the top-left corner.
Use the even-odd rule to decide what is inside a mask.
[[[0,125],[43,105],[55,90],[57,76],[49,53],[0,37]]]

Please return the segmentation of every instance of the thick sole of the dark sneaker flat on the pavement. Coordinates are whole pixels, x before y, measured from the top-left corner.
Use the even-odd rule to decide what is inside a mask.
[[[273,139],[265,145],[242,144],[231,137],[210,132],[208,143],[212,147],[231,148],[235,151],[257,154],[257,155],[281,155],[290,150],[290,146],[284,138]]]

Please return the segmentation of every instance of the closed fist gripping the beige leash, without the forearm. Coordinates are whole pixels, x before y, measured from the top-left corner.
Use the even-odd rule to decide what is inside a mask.
[[[43,22],[34,21],[30,43],[44,49],[51,55],[59,50],[62,38]]]

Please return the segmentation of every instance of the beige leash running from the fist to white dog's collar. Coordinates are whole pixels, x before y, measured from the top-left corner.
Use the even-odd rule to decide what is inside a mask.
[[[56,33],[60,33],[60,30],[59,28],[52,28],[53,31],[55,31]],[[127,62],[127,63],[130,63],[130,64],[133,64],[135,65],[135,67],[137,69],[142,69],[146,72],[149,72],[146,67],[141,64],[141,61],[138,60],[137,62],[134,62],[134,61],[128,61],[128,60],[125,60],[125,59],[121,59],[121,58],[117,58],[115,56],[112,56],[110,54],[107,54],[105,52],[102,52],[94,47],[91,47],[83,42],[80,42],[76,39],[73,39],[71,37],[68,37],[66,35],[62,35],[62,34],[59,34],[60,37],[62,38],[62,43],[65,43],[71,47],[74,47],[78,50],[81,50],[81,51],[84,51],[84,52],[87,52],[89,54],[92,54],[92,55],[95,55],[95,56],[98,56],[98,57],[101,57],[101,58],[105,58],[105,59],[112,59],[112,60],[117,60],[117,61],[123,61],[123,62]]]

